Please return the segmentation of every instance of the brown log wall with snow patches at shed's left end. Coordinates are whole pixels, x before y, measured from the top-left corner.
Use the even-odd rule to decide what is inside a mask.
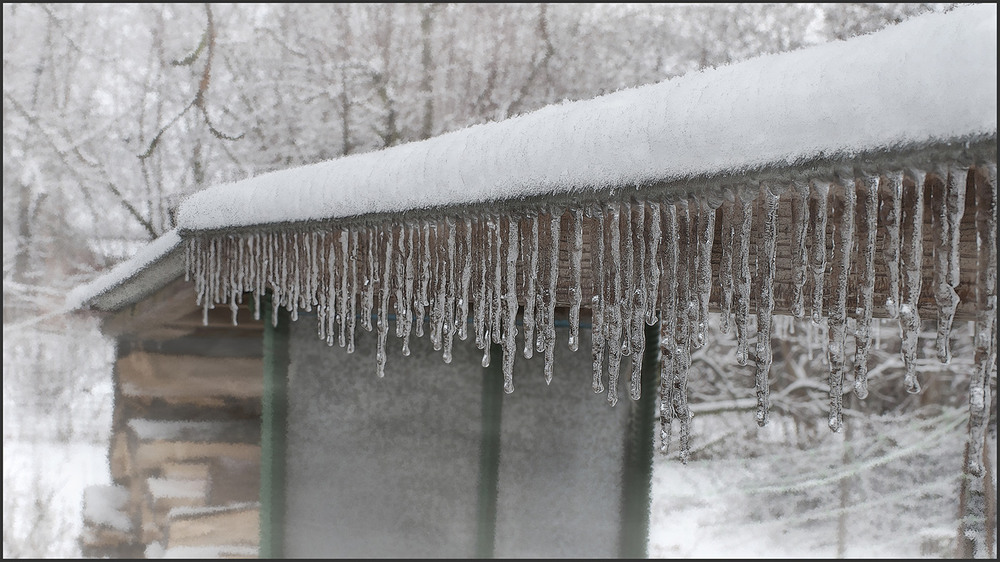
[[[104,328],[117,342],[113,484],[88,493],[83,554],[255,557],[262,324],[244,307],[238,326],[228,309],[203,325],[179,279]],[[101,510],[105,521],[86,516]]]

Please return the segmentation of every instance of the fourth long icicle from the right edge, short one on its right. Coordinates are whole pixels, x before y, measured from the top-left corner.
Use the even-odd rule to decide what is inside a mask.
[[[861,248],[861,315],[855,334],[854,394],[864,400],[868,396],[868,350],[872,344],[872,315],[875,303],[875,234],[878,228],[878,176],[863,178],[865,185],[865,241]]]

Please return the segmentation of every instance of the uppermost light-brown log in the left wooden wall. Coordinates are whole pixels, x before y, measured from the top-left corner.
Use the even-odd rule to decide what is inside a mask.
[[[210,358],[136,352],[116,363],[124,395],[160,398],[256,398],[263,363],[256,358]]]

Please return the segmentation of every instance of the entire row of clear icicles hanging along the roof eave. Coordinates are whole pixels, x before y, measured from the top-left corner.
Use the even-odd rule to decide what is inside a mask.
[[[926,204],[935,214],[937,230],[937,349],[945,362],[958,305],[959,225],[967,173],[975,175],[976,168],[935,170],[946,186],[945,195]],[[979,368],[972,391],[972,407],[979,404],[980,409],[982,396],[988,397],[983,388],[991,368],[989,357],[996,361],[995,164],[981,168],[983,174],[986,180],[978,182],[976,192],[977,285],[982,302],[976,339]],[[676,419],[681,458],[686,460],[691,418],[687,373],[691,351],[706,342],[713,283],[720,295],[719,302],[711,303],[721,310],[720,330],[735,328],[738,363],[752,360],[756,366],[756,421],[761,426],[768,421],[779,197],[791,199],[791,312],[801,318],[808,304],[817,324],[824,317],[828,320],[830,428],[838,431],[842,425],[849,291],[852,302],[858,303],[853,388],[860,398],[868,393],[876,259],[883,260],[889,278],[888,295],[880,305],[888,316],[899,319],[903,336],[906,388],[919,392],[915,366],[923,217],[913,210],[925,208],[924,189],[914,186],[924,186],[927,174],[909,170],[845,177],[846,181],[814,179],[734,189],[728,192],[730,199],[715,206],[699,200],[630,198],[315,230],[194,236],[187,245],[187,271],[195,280],[206,322],[209,308],[228,303],[235,323],[244,293],[253,295],[259,319],[260,298],[271,291],[275,313],[285,307],[295,320],[299,309],[315,309],[320,338],[347,352],[354,351],[359,323],[365,330],[377,331],[379,376],[385,372],[390,315],[396,319],[395,335],[403,355],[409,355],[412,336],[424,335],[425,323],[434,349],[446,363],[451,362],[456,337],[474,338],[483,350],[484,367],[489,364],[490,344],[499,344],[508,393],[514,389],[516,336],[521,336],[525,358],[544,354],[544,377],[550,382],[557,305],[568,308],[568,345],[573,351],[579,347],[581,309],[589,310],[593,390],[606,389],[611,405],[618,400],[621,365],[629,357],[628,393],[633,400],[639,398],[644,327],[659,324],[661,451],[667,451]],[[835,198],[834,185],[854,189],[843,189]],[[829,227],[828,216],[833,223]],[[864,221],[863,228],[856,228],[855,217]],[[717,220],[721,228],[716,228]],[[885,230],[877,247],[879,225]],[[854,244],[860,256],[856,263]],[[721,246],[717,271],[712,265],[714,246]],[[755,263],[751,263],[752,247]],[[860,286],[849,287],[852,270]],[[824,295],[828,278],[832,294]],[[811,295],[804,290],[807,279],[813,281]],[[751,290],[757,305],[752,352]],[[824,299],[832,303],[829,310],[823,308]],[[277,314],[272,318],[276,322]]]

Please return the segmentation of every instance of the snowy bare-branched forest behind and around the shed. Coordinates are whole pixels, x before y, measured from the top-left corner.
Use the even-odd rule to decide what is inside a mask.
[[[82,489],[109,480],[114,350],[64,296],[186,195],[950,6],[4,4],[4,557],[79,556]],[[872,395],[833,435],[814,331],[778,325],[766,432],[752,380],[719,367],[735,345],[699,350],[701,442],[686,467],[657,459],[651,556],[953,553],[971,337],[948,365],[924,354],[911,396],[884,323]]]

